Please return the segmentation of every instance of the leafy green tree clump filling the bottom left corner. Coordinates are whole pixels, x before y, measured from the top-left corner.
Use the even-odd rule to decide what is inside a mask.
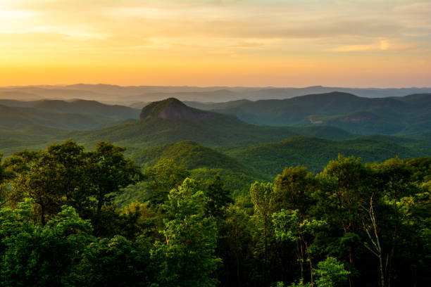
[[[0,210],[0,236],[4,245],[0,263],[1,286],[77,286],[82,285],[75,267],[89,235],[89,221],[73,208],[64,206],[53,219],[42,224],[32,221],[33,200],[18,208]]]

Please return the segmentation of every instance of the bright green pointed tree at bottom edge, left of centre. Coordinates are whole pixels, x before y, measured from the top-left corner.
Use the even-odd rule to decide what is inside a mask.
[[[161,286],[215,286],[211,273],[220,262],[213,253],[217,229],[206,217],[207,198],[197,189],[196,181],[185,179],[170,191],[165,203],[167,218],[162,232],[164,241],[156,241],[152,258],[161,269]]]

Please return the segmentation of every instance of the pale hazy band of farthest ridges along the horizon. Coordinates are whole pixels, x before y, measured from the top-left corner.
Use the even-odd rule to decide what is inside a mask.
[[[305,87],[305,88],[274,88],[274,87],[160,87],[130,86],[120,87],[109,84],[73,84],[68,86],[25,86],[0,87],[0,98],[35,101],[40,99],[81,98],[130,105],[132,103],[148,103],[164,98],[178,98],[180,101],[223,102],[239,99],[284,99],[306,94],[323,94],[332,91],[355,94],[368,98],[388,96],[406,96],[408,94],[431,93],[431,88],[405,89],[363,89],[343,87]],[[142,108],[140,106],[139,108]]]

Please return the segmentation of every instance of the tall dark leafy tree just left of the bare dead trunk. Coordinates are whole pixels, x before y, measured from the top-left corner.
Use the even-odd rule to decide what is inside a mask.
[[[363,248],[358,236],[365,216],[361,205],[366,204],[375,190],[373,170],[364,166],[361,158],[338,155],[337,160],[331,160],[325,170],[318,174],[318,179],[320,192],[316,193],[317,213],[323,213],[320,216],[334,229],[332,234],[342,230],[342,234],[334,240],[337,245],[331,249],[336,250],[339,256],[346,256],[348,268],[354,268],[354,256],[358,254],[355,251]]]

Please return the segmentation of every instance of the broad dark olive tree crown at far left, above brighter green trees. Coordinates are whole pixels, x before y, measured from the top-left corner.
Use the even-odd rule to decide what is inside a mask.
[[[18,202],[30,196],[40,207],[41,222],[56,214],[61,205],[72,205],[89,218],[90,191],[84,147],[73,141],[53,144],[46,151],[15,153],[6,166],[13,186],[10,199]]]

